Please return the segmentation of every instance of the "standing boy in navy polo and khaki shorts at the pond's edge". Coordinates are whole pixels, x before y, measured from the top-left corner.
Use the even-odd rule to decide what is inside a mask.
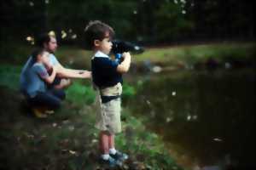
[[[119,64],[109,58],[114,31],[99,20],[90,21],[85,28],[88,46],[94,52],[91,59],[92,80],[100,95],[101,111],[97,116],[96,127],[99,134],[101,160],[109,166],[120,165],[128,156],[115,150],[114,134],[121,132],[120,95],[122,94],[122,74],[129,70],[131,55],[122,54]]]

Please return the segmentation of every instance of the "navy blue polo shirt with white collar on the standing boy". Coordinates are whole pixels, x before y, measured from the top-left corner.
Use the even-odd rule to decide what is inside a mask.
[[[91,59],[92,80],[99,88],[107,88],[123,82],[122,74],[117,71],[118,62],[113,61],[107,54],[96,52]]]

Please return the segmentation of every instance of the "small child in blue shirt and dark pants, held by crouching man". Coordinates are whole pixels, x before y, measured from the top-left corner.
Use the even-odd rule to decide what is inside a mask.
[[[46,109],[55,110],[60,107],[65,94],[58,89],[48,89],[47,84],[54,82],[56,67],[49,63],[49,53],[44,48],[38,48],[32,53],[32,62],[25,65],[20,74],[21,92],[32,106],[35,116],[46,117]],[[49,75],[49,70],[51,74]]]

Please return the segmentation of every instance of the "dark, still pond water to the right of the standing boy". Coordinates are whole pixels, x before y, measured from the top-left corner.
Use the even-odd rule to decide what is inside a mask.
[[[177,162],[190,169],[254,169],[253,70],[148,74],[129,102],[160,134]]]

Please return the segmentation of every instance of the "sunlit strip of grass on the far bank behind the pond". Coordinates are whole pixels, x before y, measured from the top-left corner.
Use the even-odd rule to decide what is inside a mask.
[[[145,53],[135,55],[135,61],[142,62],[148,59],[152,62],[168,65],[175,65],[178,62],[195,64],[198,61],[204,61],[209,58],[224,60],[226,57],[252,57],[254,53],[255,43],[253,42],[213,43],[176,46],[172,48],[146,48]]]

